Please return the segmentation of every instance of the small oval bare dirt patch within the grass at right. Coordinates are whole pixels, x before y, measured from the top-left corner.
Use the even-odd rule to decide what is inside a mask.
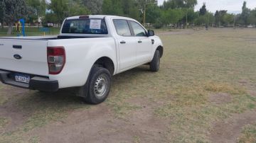
[[[209,97],[210,103],[223,104],[231,102],[232,97],[228,93],[214,93]]]

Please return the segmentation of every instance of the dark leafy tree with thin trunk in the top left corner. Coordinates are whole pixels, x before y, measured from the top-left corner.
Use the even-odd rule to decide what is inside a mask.
[[[3,2],[4,22],[9,25],[7,35],[11,35],[12,26],[18,19],[26,18],[27,4],[26,0],[8,0]]]

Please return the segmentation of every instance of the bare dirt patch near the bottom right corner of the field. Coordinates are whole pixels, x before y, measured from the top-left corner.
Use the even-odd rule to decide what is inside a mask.
[[[235,114],[220,122],[214,124],[210,132],[211,142],[237,142],[242,127],[255,123],[256,111],[247,111],[242,114]]]

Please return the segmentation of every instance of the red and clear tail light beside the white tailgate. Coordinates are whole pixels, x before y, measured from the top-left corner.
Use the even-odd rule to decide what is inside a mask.
[[[60,74],[65,65],[64,47],[47,47],[49,74]]]

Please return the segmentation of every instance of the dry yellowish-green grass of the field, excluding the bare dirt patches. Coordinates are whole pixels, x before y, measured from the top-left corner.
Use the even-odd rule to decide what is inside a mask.
[[[156,118],[169,120],[169,130],[164,132],[169,142],[209,142],[213,122],[233,113],[255,110],[256,97],[248,93],[256,91],[255,29],[158,34],[165,47],[159,72],[151,73],[145,65],[114,76],[110,98],[104,104],[116,118],[127,120],[143,108],[129,101],[146,98],[154,103],[151,108]],[[232,100],[215,105],[208,100],[213,93],[228,93]],[[3,97],[6,95],[1,93],[0,105],[1,101],[6,103]],[[40,137],[30,137],[28,133],[63,120],[72,110],[90,110],[90,105],[67,92],[45,95],[30,91],[7,101],[10,102],[29,114],[17,130],[0,135],[0,142],[40,141]],[[245,128],[241,142],[254,141],[254,129]],[[143,137],[134,136],[132,140],[143,142]]]

